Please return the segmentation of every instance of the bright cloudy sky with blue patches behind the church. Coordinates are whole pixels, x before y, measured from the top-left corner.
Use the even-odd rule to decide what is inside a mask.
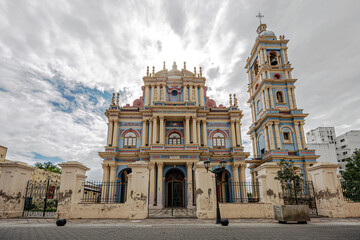
[[[146,66],[202,66],[217,104],[236,93],[243,141],[251,114],[244,69],[259,24],[290,39],[305,131],[360,129],[360,1],[0,0],[0,145],[7,158],[75,160],[101,179],[111,94],[140,95]]]

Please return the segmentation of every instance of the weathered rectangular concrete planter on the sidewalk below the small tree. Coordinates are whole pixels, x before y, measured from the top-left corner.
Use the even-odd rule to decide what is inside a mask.
[[[274,216],[279,223],[287,223],[288,221],[307,223],[307,221],[311,221],[308,205],[274,205]]]

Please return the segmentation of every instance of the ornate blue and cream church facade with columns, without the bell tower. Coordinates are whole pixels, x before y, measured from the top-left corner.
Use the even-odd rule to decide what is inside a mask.
[[[235,94],[229,106],[217,105],[207,95],[202,69],[172,68],[143,77],[142,96],[132,105],[119,106],[115,94],[109,109],[108,137],[103,159],[103,182],[120,187],[105,193],[113,202],[126,202],[128,165],[145,161],[150,165],[149,208],[193,208],[193,166],[210,160],[214,168],[226,161],[221,181],[245,182],[245,159],[241,139],[242,111]],[[116,184],[118,186],[118,184]]]

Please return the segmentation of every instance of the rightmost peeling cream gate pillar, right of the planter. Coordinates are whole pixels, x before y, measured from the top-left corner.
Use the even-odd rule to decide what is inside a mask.
[[[316,205],[319,215],[328,217],[346,217],[340,175],[336,173],[338,164],[317,163],[308,168],[314,184]]]

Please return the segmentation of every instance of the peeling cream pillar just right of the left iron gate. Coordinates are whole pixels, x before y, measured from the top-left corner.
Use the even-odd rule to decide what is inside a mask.
[[[81,201],[83,196],[85,173],[89,168],[76,161],[64,162],[59,166],[62,173],[56,216],[57,218],[74,218],[76,217],[76,204]]]

